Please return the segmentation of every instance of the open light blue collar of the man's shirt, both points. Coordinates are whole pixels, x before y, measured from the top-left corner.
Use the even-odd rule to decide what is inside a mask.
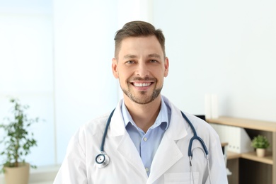
[[[127,107],[125,106],[125,102],[124,101],[122,102],[121,110],[122,110],[122,117],[123,117],[123,120],[125,122],[125,127],[129,123],[131,123],[134,127],[137,127],[137,125],[135,124],[135,122],[132,120],[132,117],[131,117],[130,113],[128,112]],[[161,109],[159,111],[159,115],[156,117],[154,125],[152,125],[150,127],[150,129],[154,129],[155,127],[159,127],[160,125],[163,128],[163,130],[167,130],[168,129],[168,125],[169,125],[168,106],[164,102],[163,97],[161,97]]]

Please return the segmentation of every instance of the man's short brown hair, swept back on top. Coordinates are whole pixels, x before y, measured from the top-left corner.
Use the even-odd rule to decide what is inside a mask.
[[[149,36],[149,35],[155,35],[157,40],[159,40],[159,43],[162,47],[164,57],[165,54],[165,37],[162,33],[162,30],[155,29],[154,25],[151,25],[150,23],[146,23],[143,21],[132,21],[129,23],[126,23],[122,29],[117,30],[115,34],[115,57],[117,57],[117,54],[120,50],[120,46],[122,43],[122,40],[129,37],[142,37],[142,36]]]

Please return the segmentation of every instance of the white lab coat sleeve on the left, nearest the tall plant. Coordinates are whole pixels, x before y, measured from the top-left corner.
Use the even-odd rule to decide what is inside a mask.
[[[79,132],[71,138],[67,154],[57,173],[54,184],[84,184],[86,177],[86,156],[84,146],[79,141]]]

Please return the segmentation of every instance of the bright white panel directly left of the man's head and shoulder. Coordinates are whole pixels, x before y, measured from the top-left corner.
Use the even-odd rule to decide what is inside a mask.
[[[114,6],[115,1],[54,1],[58,163],[74,132],[117,104],[117,86],[111,72],[110,33],[115,32],[117,23]]]

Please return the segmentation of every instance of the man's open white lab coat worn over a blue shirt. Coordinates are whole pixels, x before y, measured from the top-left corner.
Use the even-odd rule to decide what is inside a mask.
[[[156,151],[149,177],[132,139],[125,130],[120,112],[121,100],[113,114],[105,139],[104,151],[110,158],[108,166],[98,168],[95,158],[100,154],[100,144],[109,114],[86,123],[74,134],[54,184],[184,184],[192,183],[192,175],[195,183],[209,183],[207,161],[201,149],[193,151],[192,172],[190,172],[188,144],[192,130],[188,122],[183,119],[180,110],[167,98],[163,99],[171,107],[171,124]],[[187,113],[185,115],[209,149],[212,184],[227,183],[226,166],[217,133],[203,120]],[[192,147],[201,146],[195,140]]]

